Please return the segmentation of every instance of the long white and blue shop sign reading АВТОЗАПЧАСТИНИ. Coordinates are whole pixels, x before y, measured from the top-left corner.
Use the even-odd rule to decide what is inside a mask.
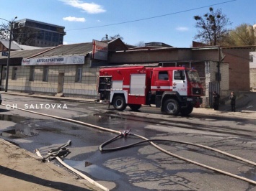
[[[82,65],[84,56],[23,58],[22,65]]]

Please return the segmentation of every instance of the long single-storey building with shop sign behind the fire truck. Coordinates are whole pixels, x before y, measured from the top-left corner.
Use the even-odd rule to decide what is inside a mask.
[[[120,39],[115,39],[107,43],[105,60],[94,57],[93,47],[97,46],[87,42],[43,50],[12,51],[9,90],[97,98],[99,67],[112,65],[194,67],[205,88],[203,106],[211,106],[213,90],[221,97],[229,95],[231,90],[250,90],[251,47],[138,47],[128,50]],[[3,90],[6,57],[0,56],[0,66]]]

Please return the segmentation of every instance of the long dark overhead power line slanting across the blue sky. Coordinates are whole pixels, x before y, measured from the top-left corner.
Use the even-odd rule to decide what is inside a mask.
[[[230,3],[232,1],[237,1],[237,0],[224,1],[224,2],[221,2],[219,4],[227,4],[227,3]],[[81,29],[69,29],[69,30],[66,30],[66,31],[74,31],[74,30],[82,30],[82,29],[94,29],[94,28],[100,28],[100,27],[109,27],[109,26],[118,25],[118,24],[126,24],[126,23],[131,23],[131,22],[141,22],[141,21],[144,21],[144,20],[156,19],[156,18],[159,18],[159,17],[167,17],[167,16],[172,15],[172,14],[180,14],[180,13],[187,12],[187,11],[195,11],[195,10],[198,10],[198,9],[206,8],[208,6],[216,6],[216,5],[219,5],[219,4],[211,4],[211,5],[207,5],[207,6],[200,6],[198,8],[194,8],[194,9],[187,9],[187,10],[184,10],[184,11],[177,11],[177,12],[174,12],[174,13],[162,14],[162,15],[159,15],[159,16],[147,17],[147,18],[144,18],[144,19],[136,19],[136,20],[132,20],[132,21],[118,22],[118,23],[114,23],[114,24],[105,24],[105,25],[100,25],[100,26],[95,26],[95,27],[85,27],[85,28],[81,28]]]

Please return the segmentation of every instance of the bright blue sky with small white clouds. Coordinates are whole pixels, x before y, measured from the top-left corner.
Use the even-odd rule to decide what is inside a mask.
[[[218,4],[213,9],[222,9],[229,17],[230,28],[243,23],[256,24],[255,0],[0,0],[0,3],[3,19],[18,17],[17,20],[33,19],[65,27],[65,44],[120,34],[129,45],[164,42],[174,47],[190,47],[197,32],[193,16],[203,16],[213,4]],[[139,21],[133,22],[136,20]],[[6,22],[0,20],[0,23]]]

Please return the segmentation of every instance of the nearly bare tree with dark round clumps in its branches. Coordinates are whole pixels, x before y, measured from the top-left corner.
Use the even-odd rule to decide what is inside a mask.
[[[222,14],[221,9],[209,8],[209,12],[202,16],[194,16],[196,21],[195,27],[198,28],[198,34],[195,39],[206,45],[220,45],[226,38],[229,29],[226,27],[231,25],[229,18]]]

